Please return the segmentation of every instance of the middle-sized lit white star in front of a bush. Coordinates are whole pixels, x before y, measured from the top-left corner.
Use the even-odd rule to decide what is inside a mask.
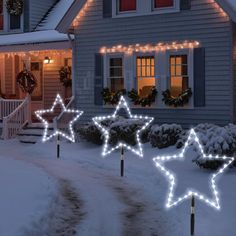
[[[116,119],[119,110],[122,108],[126,110],[127,115],[128,115],[128,119],[140,119],[140,120],[145,121],[144,125],[136,132],[137,148],[132,148],[131,146],[127,145],[124,142],[119,142],[115,147],[109,147],[110,130],[108,127],[104,127],[101,123],[105,120]],[[100,116],[100,117],[93,118],[94,124],[103,132],[103,134],[105,136],[105,143],[103,146],[102,155],[105,157],[105,156],[111,154],[113,151],[124,147],[124,148],[130,150],[131,152],[133,152],[135,155],[143,157],[143,148],[142,148],[142,144],[140,141],[140,133],[142,131],[144,131],[149,126],[149,124],[153,121],[153,119],[154,118],[148,117],[148,116],[132,115],[125,98],[123,96],[121,96],[119,103],[118,103],[113,115]]]

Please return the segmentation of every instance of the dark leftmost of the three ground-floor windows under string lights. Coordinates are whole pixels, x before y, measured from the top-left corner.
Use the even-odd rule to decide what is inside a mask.
[[[109,60],[109,86],[113,93],[124,89],[122,58],[110,58]]]

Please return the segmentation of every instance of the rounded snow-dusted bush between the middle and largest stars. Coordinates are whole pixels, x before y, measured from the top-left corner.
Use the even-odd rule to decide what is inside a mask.
[[[180,125],[154,125],[151,128],[149,139],[152,147],[166,148],[175,145],[182,134],[183,129]]]

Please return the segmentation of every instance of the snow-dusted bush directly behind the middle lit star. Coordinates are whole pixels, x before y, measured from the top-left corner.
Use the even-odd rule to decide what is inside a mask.
[[[116,119],[106,120],[102,122],[104,127],[109,127],[110,129],[110,139],[109,144],[115,146],[118,142],[123,141],[129,145],[136,145],[136,133],[146,121],[136,120],[136,119],[124,119],[123,117],[118,117]],[[80,126],[77,129],[79,136],[89,142],[101,145],[103,143],[103,134],[101,130],[90,122],[86,125]],[[140,134],[142,142],[147,142],[149,135],[149,130],[143,131]]]

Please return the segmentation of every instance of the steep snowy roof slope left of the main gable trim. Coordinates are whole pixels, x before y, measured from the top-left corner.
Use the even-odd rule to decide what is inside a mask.
[[[74,0],[60,0],[45,17],[45,19],[39,24],[36,31],[56,29],[57,25],[70,9],[73,2]]]

